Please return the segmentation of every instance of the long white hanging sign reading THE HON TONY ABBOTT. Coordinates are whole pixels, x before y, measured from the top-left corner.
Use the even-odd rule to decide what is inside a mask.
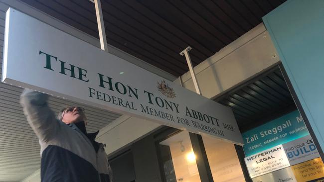
[[[242,145],[230,108],[10,8],[2,82]]]

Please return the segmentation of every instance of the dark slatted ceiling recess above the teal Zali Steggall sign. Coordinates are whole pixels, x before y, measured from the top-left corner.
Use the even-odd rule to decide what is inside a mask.
[[[233,109],[241,132],[297,109],[277,67],[215,101]]]

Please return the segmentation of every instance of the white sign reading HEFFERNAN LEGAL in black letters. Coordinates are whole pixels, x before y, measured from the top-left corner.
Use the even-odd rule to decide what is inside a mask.
[[[282,145],[246,157],[244,160],[250,178],[265,175],[290,166]]]

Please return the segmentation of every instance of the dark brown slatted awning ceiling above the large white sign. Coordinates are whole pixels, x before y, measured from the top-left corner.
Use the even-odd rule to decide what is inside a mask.
[[[90,0],[22,0],[96,38]],[[286,0],[101,0],[107,42],[178,77],[262,22]]]

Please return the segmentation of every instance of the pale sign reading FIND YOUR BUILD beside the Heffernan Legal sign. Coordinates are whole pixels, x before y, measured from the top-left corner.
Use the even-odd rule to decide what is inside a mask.
[[[291,166],[320,157],[311,135],[283,144]]]

